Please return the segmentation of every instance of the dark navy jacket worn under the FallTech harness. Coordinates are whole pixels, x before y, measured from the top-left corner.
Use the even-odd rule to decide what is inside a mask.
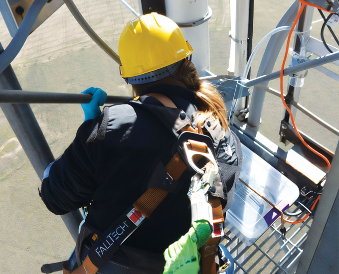
[[[190,118],[196,110],[194,93],[183,87],[161,84],[147,92],[168,96]],[[145,103],[162,106],[153,97],[147,97]],[[233,139],[215,144],[220,165],[216,193],[224,198],[224,206],[227,192],[234,190],[233,181],[239,176],[234,174],[237,168],[231,166],[238,164],[239,157],[234,142],[229,143],[231,155],[223,150],[229,140]],[[55,214],[88,206],[85,225],[100,236],[145,192],[155,163],[161,159],[166,165],[175,141],[164,123],[138,104],[105,107],[100,117],[80,126],[73,143],[52,164],[49,176],[42,182],[42,200]],[[124,244],[163,253],[188,231],[191,213],[187,191],[191,176],[188,171],[181,175],[175,191]]]

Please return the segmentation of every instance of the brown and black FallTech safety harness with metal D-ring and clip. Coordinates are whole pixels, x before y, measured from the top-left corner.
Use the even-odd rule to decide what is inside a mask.
[[[209,221],[213,232],[208,242],[201,248],[202,274],[217,273],[215,255],[223,235],[224,217],[220,198],[209,195],[210,190],[214,187],[214,178],[218,174],[213,141],[206,135],[197,134],[197,131],[191,126],[191,120],[182,110],[177,109],[169,98],[157,94],[152,96],[156,97],[165,107],[145,104],[143,98],[139,97],[130,101],[129,104],[149,109],[177,137],[177,141],[172,147],[173,156],[166,166],[161,161],[158,163],[150,177],[145,193],[100,237],[93,238],[94,245],[78,269],[72,272],[74,274],[94,274],[106,265],[120,245],[142,224],[145,218],[151,216],[169,192],[173,191],[186,168],[196,172],[196,175],[192,177],[188,191],[192,221],[201,219]],[[204,166],[199,168],[197,163],[203,158],[205,159]]]

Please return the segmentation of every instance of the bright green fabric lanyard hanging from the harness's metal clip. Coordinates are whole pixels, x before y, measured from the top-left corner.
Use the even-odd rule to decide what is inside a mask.
[[[165,250],[163,274],[197,274],[200,261],[198,249],[208,241],[210,235],[211,229],[206,220],[193,222],[188,232]]]

